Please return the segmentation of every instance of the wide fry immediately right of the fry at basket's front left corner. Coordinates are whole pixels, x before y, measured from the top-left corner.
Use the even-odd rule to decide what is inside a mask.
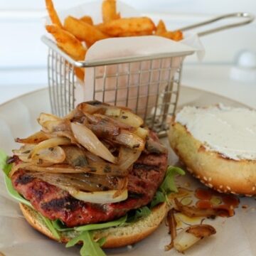
[[[96,41],[108,38],[105,33],[102,33],[100,30],[95,28],[95,26],[91,26],[90,24],[80,21],[78,18],[74,18],[72,16],[65,18],[64,28],[80,41],[85,41],[87,47],[92,46]]]

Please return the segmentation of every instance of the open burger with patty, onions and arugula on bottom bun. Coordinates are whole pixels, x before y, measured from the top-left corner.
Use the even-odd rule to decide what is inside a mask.
[[[91,101],[63,118],[41,113],[38,123],[39,132],[16,139],[13,156],[1,154],[7,190],[33,228],[67,247],[82,244],[81,255],[105,255],[102,247],[156,230],[183,171],[167,168],[166,147],[141,117]]]

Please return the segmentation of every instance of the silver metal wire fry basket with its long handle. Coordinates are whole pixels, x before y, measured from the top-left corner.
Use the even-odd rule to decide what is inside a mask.
[[[209,21],[181,28],[204,26],[224,18],[242,17],[245,21],[231,23],[198,33],[204,36],[226,28],[242,26],[253,21],[246,13],[218,16]],[[75,87],[79,87],[75,72],[79,68],[93,69],[92,99],[120,105],[139,114],[145,124],[160,136],[166,134],[169,117],[176,111],[183,59],[193,51],[161,53],[136,57],[114,58],[104,61],[75,61],[46,36],[42,41],[48,46],[48,85],[53,114],[65,116],[76,103]]]

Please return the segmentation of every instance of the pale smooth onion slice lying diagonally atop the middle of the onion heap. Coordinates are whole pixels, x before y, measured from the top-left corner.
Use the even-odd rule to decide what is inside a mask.
[[[116,159],[111,152],[100,142],[96,135],[82,124],[71,123],[71,129],[75,139],[92,154],[102,157],[111,163],[115,163]]]

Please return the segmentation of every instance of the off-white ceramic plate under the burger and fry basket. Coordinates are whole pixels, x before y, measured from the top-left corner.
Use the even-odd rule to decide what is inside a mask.
[[[201,90],[181,87],[179,107],[183,105],[211,105],[222,102],[225,105],[242,106],[238,102],[219,95]],[[11,149],[18,145],[14,142],[16,137],[26,137],[39,129],[36,118],[40,112],[50,112],[48,90],[38,90],[23,95],[0,106],[0,148],[11,154]],[[163,142],[168,145],[166,139]],[[169,163],[175,164],[177,158],[170,150]],[[179,178],[178,183],[190,183],[195,189],[201,183],[189,174]],[[242,206],[247,206],[246,209]],[[215,226],[217,234],[202,240],[186,255],[225,255],[250,256],[256,255],[256,212],[255,198],[240,198],[240,206],[235,210],[232,218],[217,218],[208,220]],[[164,252],[164,245],[169,244],[170,236],[164,225],[156,230],[149,238],[137,243],[133,247],[124,247],[117,250],[107,250],[107,255],[181,255],[175,250]],[[18,204],[6,193],[3,176],[0,174],[0,255],[6,256],[52,256],[52,255],[79,255],[79,247],[66,249],[64,245],[53,242],[33,230],[24,220],[18,209]]]

